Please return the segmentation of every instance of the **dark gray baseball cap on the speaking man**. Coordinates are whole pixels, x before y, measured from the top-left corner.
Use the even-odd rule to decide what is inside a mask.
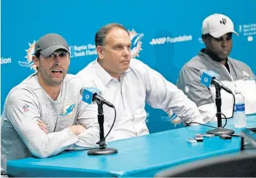
[[[43,56],[48,57],[52,52],[59,49],[69,52],[69,45],[67,45],[64,37],[58,34],[46,34],[36,42],[34,54],[40,52]]]

